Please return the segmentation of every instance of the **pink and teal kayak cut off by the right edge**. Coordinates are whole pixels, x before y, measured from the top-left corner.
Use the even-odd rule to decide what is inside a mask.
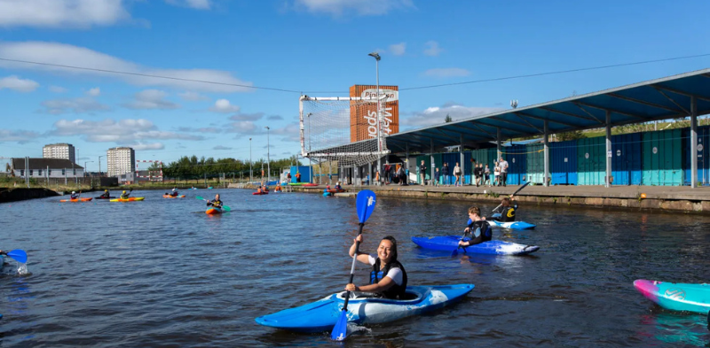
[[[710,311],[710,284],[658,282],[639,279],[634,287],[663,308],[707,314]]]

